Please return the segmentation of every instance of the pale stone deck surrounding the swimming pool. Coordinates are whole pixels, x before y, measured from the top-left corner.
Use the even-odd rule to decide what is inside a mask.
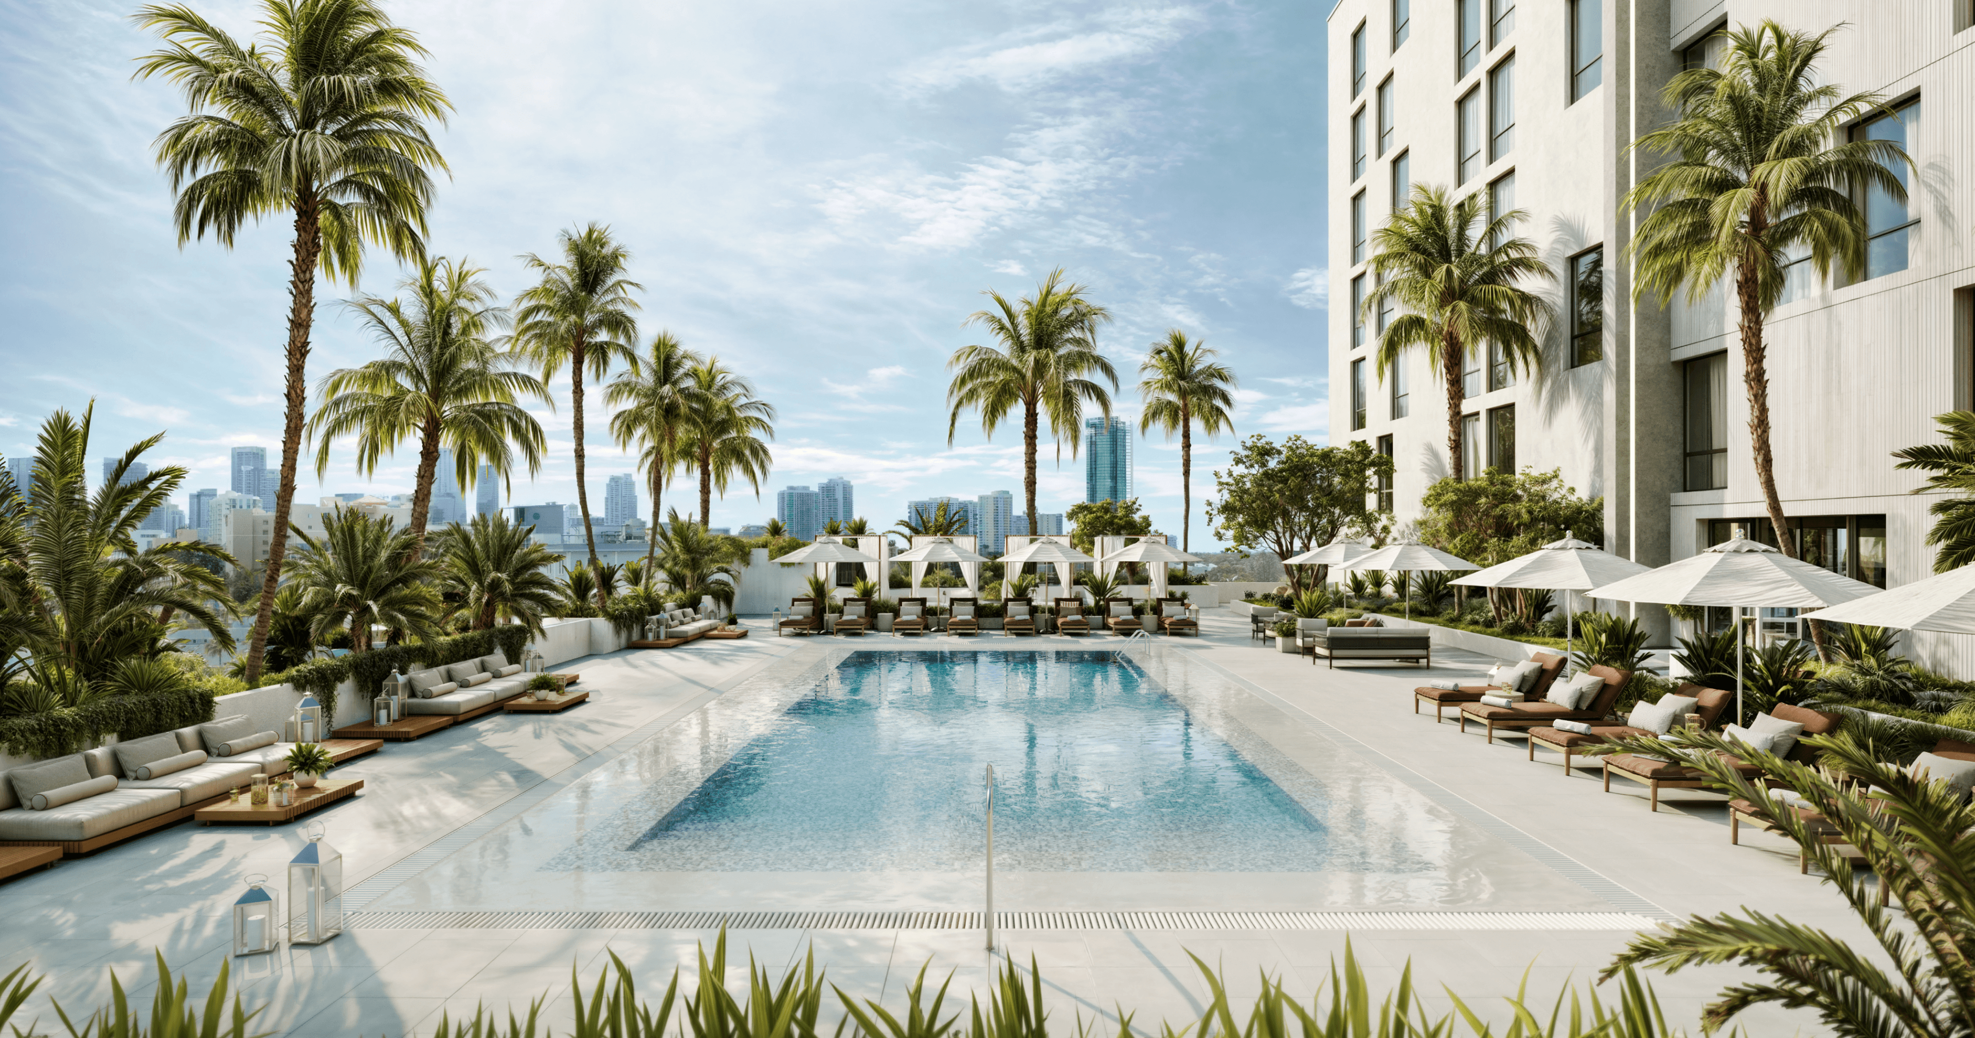
[[[1256,693],[1258,714],[1276,746],[1335,748],[1353,766],[1400,778],[1436,811],[1491,833],[1507,847],[1477,853],[1509,890],[1499,912],[1614,912],[1687,916],[1742,906],[1819,926],[1864,945],[1864,933],[1833,890],[1797,874],[1793,847],[1770,835],[1728,845],[1722,797],[1669,791],[1649,813],[1645,787],[1623,781],[1602,793],[1594,770],[1564,778],[1554,756],[1525,760],[1523,740],[1458,734],[1414,716],[1412,689],[1422,677],[1479,673],[1487,659],[1444,651],[1424,675],[1408,665],[1325,669],[1248,639],[1248,622],[1223,610],[1203,614],[1199,639],[1159,639],[1193,665],[1219,669]],[[589,657],[581,669],[591,703],[563,714],[494,714],[352,762],[340,776],[363,778],[352,801],[312,815],[328,823],[346,854],[352,900],[371,918],[383,912],[460,912],[442,920],[456,929],[359,926],[320,947],[284,947],[273,955],[227,959],[229,906],[245,876],[284,876],[300,847],[300,825],[275,829],[178,825],[47,872],[0,884],[0,971],[30,961],[49,979],[30,1004],[41,1030],[59,1026],[47,997],[71,1012],[107,1001],[109,975],[122,979],[136,1002],[156,981],[154,949],[194,991],[231,961],[247,1006],[267,1006],[259,1024],[278,1034],[429,1034],[440,1012],[472,1014],[476,1004],[523,1006],[547,997],[549,1022],[561,1030],[573,1001],[571,965],[592,981],[606,949],[642,967],[642,989],[673,965],[695,967],[695,947],[713,929],[521,926],[527,912],[675,912],[675,910],[968,910],[978,906],[972,878],[883,874],[636,874],[632,878],[543,874],[543,847],[569,839],[569,809],[587,799],[612,770],[638,768],[640,748],[689,738],[695,710],[750,675],[808,653],[833,649],[1047,649],[1116,647],[1116,637],[924,637],[867,635],[766,637],[756,630],[737,641],[695,641],[679,649],[622,651]],[[1262,708],[1260,704],[1268,704]],[[683,724],[681,724],[683,722]],[[1315,752],[1315,750],[1313,750]],[[1296,756],[1296,752],[1292,752]],[[1313,758],[1311,758],[1313,760]],[[1493,847],[1493,843],[1491,843]],[[1213,880],[1213,882],[1209,882]],[[1286,886],[1282,876],[1147,874],[1116,888],[1074,874],[1003,876],[1003,912],[1074,910],[1226,910],[1288,912],[1351,908]],[[756,892],[756,894],[750,894]],[[1548,904],[1554,892],[1554,904]],[[1590,894],[1588,894],[1590,892]],[[1355,906],[1365,908],[1365,906]],[[1371,906],[1381,908],[1381,906]],[[1384,906],[1404,908],[1404,906]],[[492,912],[472,920],[472,914]],[[1384,916],[1382,924],[1402,922]],[[553,924],[553,920],[551,920]],[[1412,926],[1412,924],[1404,924]],[[1440,985],[1469,1004],[1489,1004],[1531,977],[1535,1001],[1554,997],[1566,977],[1588,981],[1629,937],[1620,929],[1540,929],[1540,920],[1507,920],[1509,929],[1007,929],[1001,947],[982,947],[978,929],[733,929],[731,979],[752,953],[770,971],[800,965],[804,951],[851,995],[901,999],[922,961],[932,975],[954,973],[956,989],[980,985],[995,963],[1033,955],[1045,979],[1051,1018],[1068,1034],[1070,1014],[1090,1018],[1122,1004],[1136,1022],[1193,1020],[1205,985],[1187,951],[1224,965],[1236,997],[1252,997],[1258,971],[1278,975],[1305,997],[1329,977],[1345,939],[1353,941],[1373,991],[1396,983],[1410,959],[1428,1002],[1446,1006]],[[1726,983],[1726,967],[1651,975],[1669,1020],[1687,1022]],[[1612,993],[1616,997],[1616,993]],[[1499,1004],[1499,1002],[1493,1002]],[[833,1012],[831,1012],[833,1016]],[[20,1020],[16,1020],[20,1022]],[[1750,1034],[1821,1034],[1809,1014],[1744,1014]]]

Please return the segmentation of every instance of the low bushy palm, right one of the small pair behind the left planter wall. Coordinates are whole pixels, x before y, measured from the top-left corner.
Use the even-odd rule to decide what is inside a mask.
[[[474,515],[472,523],[438,531],[438,590],[458,602],[468,630],[521,624],[541,633],[541,618],[561,602],[547,568],[563,556],[537,545],[529,527],[506,515]]]

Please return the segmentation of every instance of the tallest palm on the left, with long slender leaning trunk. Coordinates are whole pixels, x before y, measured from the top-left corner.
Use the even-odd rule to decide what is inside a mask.
[[[140,59],[138,77],[176,83],[190,109],[154,144],[178,195],[178,243],[211,231],[231,249],[249,221],[294,221],[280,485],[261,612],[247,647],[253,685],[288,551],[308,412],[316,266],[330,280],[356,284],[365,245],[381,245],[397,259],[425,255],[429,170],[446,168],[427,124],[444,122],[452,105],[425,79],[419,39],[371,0],[263,0],[263,34],[249,45],[180,4],[144,6],[134,20],[166,41]]]

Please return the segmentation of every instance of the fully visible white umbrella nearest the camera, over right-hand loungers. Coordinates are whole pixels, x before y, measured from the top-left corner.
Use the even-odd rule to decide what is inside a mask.
[[[1736,612],[1734,712],[1742,720],[1742,608],[1809,610],[1837,606],[1878,588],[1819,564],[1791,558],[1770,545],[1736,537],[1657,570],[1586,592],[1590,598],[1659,606],[1730,606]]]

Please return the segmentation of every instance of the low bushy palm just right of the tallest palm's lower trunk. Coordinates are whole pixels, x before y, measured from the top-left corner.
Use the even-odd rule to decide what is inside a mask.
[[[302,588],[302,612],[316,641],[350,630],[352,651],[369,651],[371,626],[417,637],[438,633],[440,600],[429,586],[438,562],[411,549],[411,531],[365,511],[336,509],[322,517],[322,537],[302,539],[288,558],[288,580]],[[393,641],[397,633],[393,633]]]

